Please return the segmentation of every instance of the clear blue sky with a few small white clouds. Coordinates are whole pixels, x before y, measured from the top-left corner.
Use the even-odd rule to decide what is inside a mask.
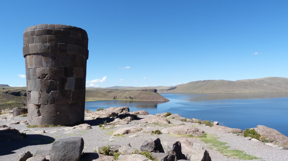
[[[23,33],[88,33],[86,86],[288,77],[288,1],[2,1],[0,84],[26,86]]]

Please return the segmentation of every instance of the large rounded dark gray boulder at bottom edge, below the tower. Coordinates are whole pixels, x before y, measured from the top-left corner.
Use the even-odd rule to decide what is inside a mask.
[[[53,143],[50,161],[78,161],[84,148],[81,137],[65,138]]]

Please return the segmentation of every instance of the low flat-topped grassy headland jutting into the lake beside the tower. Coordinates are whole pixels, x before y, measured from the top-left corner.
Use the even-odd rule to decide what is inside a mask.
[[[133,100],[145,101],[169,101],[162,95],[156,92],[156,89],[136,89],[136,90],[121,90],[121,89],[90,89],[86,88],[86,101],[99,100],[129,100],[129,96]]]

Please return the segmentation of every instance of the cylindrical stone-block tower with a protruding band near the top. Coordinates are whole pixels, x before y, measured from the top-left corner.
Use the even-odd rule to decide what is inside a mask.
[[[30,26],[23,35],[30,125],[84,121],[88,36],[69,25]]]

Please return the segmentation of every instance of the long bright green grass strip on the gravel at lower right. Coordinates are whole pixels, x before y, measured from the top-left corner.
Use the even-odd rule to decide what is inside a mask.
[[[201,137],[201,141],[203,141],[206,144],[210,144],[209,148],[210,149],[216,149],[219,151],[221,154],[224,156],[227,156],[228,158],[237,158],[237,159],[242,159],[242,160],[252,160],[252,159],[260,159],[257,156],[253,156],[250,154],[246,154],[242,150],[230,150],[230,146],[227,146],[228,143],[226,142],[220,142],[217,140],[217,137],[207,134],[206,137]]]

